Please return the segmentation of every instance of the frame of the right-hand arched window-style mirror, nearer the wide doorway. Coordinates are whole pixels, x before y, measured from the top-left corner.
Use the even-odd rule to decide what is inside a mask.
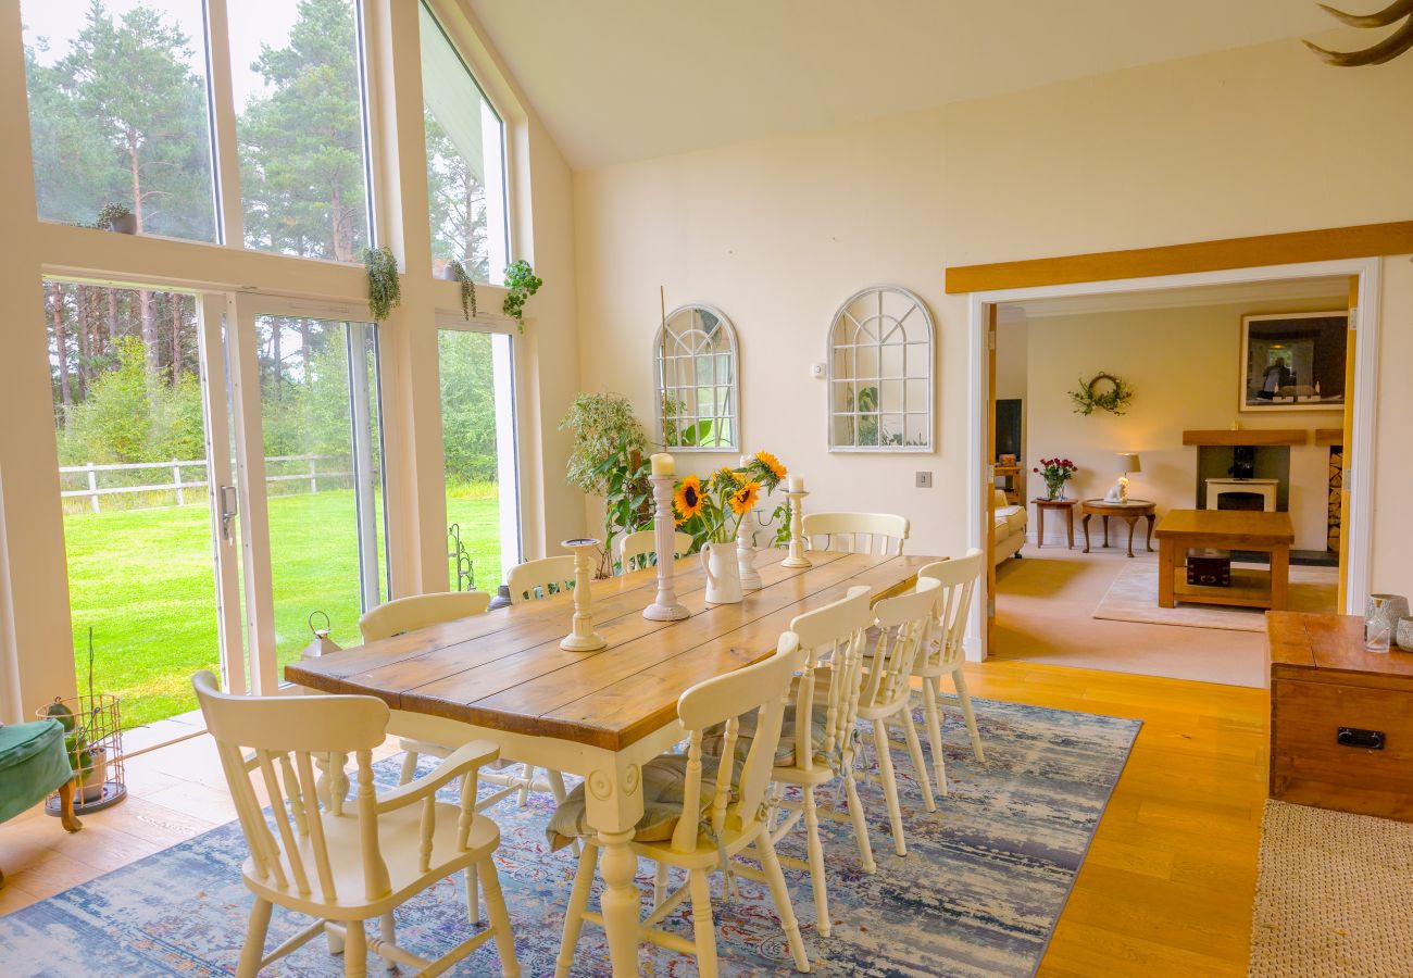
[[[849,311],[851,307],[853,307],[861,300],[868,301],[868,300],[873,298],[875,295],[877,297],[877,311],[873,312],[873,314],[870,314],[870,315],[866,315],[862,321],[856,319],[853,317],[853,314]],[[904,301],[910,302],[907,311],[903,312],[901,315],[897,315],[897,317],[894,317],[890,312],[885,311],[883,300],[887,295],[901,297]],[[921,317],[921,321],[923,321],[923,324],[926,326],[926,332],[927,332],[926,341],[910,341],[910,339],[907,339],[906,329],[903,329],[903,335],[900,338],[894,339],[894,336],[897,336],[899,331],[903,328],[903,324],[907,322],[907,319],[910,317],[913,317],[914,314],[918,314]],[[872,342],[866,342],[866,343],[858,342],[858,334],[868,332],[868,324],[872,324],[872,322],[885,322],[885,321],[892,321],[892,324],[893,324],[892,328],[887,328],[886,331],[885,329],[875,331],[875,334],[873,334],[875,339]],[[839,329],[841,329],[841,326],[842,328],[849,328],[849,324],[852,324],[852,334],[849,336],[849,339],[852,342],[841,343],[838,341]],[[831,452],[931,452],[933,451],[933,401],[937,399],[937,391],[933,389],[933,342],[935,339],[935,335],[937,335],[937,329],[933,325],[933,314],[928,311],[927,304],[923,302],[923,300],[918,298],[918,295],[916,293],[911,293],[907,288],[903,288],[901,285],[885,285],[885,284],[869,285],[868,288],[861,288],[859,291],[853,293],[846,300],[844,300],[842,304],[839,304],[838,311],[834,314],[834,318],[829,321],[829,332],[825,336],[825,343],[827,343],[827,349],[828,349],[828,363],[829,363],[828,386],[825,387],[825,414],[827,414],[827,418],[828,418],[828,444],[829,444],[829,451]],[[883,350],[889,349],[889,348],[893,348],[893,346],[901,346],[903,348],[901,349],[901,352],[903,352],[903,373],[899,377],[885,377],[883,376]],[[914,358],[909,356],[909,348],[911,348],[911,346],[923,348],[921,349],[923,355],[920,358],[916,358],[916,359],[920,359],[920,362],[923,365],[923,372],[920,375],[916,375],[916,373],[910,372],[911,370],[910,365],[911,365],[913,359],[914,359]],[[877,375],[879,375],[877,377],[858,377],[858,376],[853,376],[852,372],[848,376],[845,376],[842,373],[842,365],[839,362],[838,352],[841,349],[861,349],[861,348],[873,348],[873,349],[876,349]],[[853,410],[853,411],[841,411],[836,407],[835,400],[834,400],[834,391],[835,391],[836,384],[845,384],[845,383],[852,384],[853,403],[855,403],[855,406],[858,406],[858,396],[859,396],[858,391],[859,391],[859,382],[861,380],[872,380],[880,389],[882,389],[882,384],[887,383],[887,382],[897,382],[897,383],[900,383],[901,387],[903,387],[903,404],[901,404],[900,410],[897,410],[897,411],[883,411],[882,410],[883,406],[880,403],[879,408],[876,411],[858,411],[858,410]],[[910,410],[910,403],[909,403],[909,397],[907,397],[907,389],[909,389],[910,383],[917,383],[917,382],[921,382],[923,389],[927,391],[926,393],[926,404],[923,406],[921,410],[917,410],[917,408]],[[882,391],[880,391],[880,397],[882,397]],[[873,414],[873,416],[876,416],[879,418],[879,427],[880,427],[880,430],[882,430],[885,414],[897,414],[897,416],[900,416],[903,418],[903,431],[901,431],[901,434],[903,434],[903,438],[904,438],[904,444],[861,445],[856,441],[856,437],[858,437],[856,434],[855,434],[855,442],[852,442],[852,444],[841,441],[838,438],[838,434],[836,434],[838,428],[836,428],[835,421],[839,417],[855,417],[855,418],[858,418],[858,417],[863,417],[865,414]],[[921,444],[917,444],[917,445],[909,445],[909,444],[906,444],[906,438],[907,438],[907,421],[909,421],[910,417],[923,417],[924,418],[924,421],[923,421],[924,428],[923,430],[924,430],[926,437],[924,437],[924,440],[923,440]],[[880,434],[882,434],[882,431],[880,431]]]

